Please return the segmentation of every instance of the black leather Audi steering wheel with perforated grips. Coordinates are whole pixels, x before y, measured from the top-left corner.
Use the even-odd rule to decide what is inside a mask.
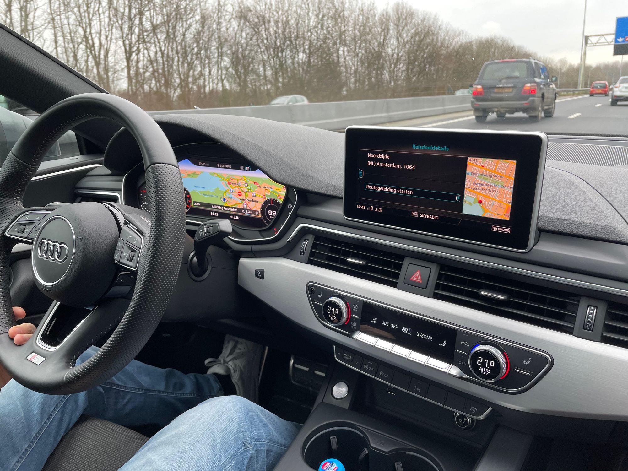
[[[94,118],[116,121],[138,141],[151,214],[97,202],[24,208],[24,190],[48,149],[70,128]],[[184,239],[183,183],[172,146],[156,122],[133,103],[102,93],[52,106],[26,129],[0,168],[0,363],[23,386],[47,394],[85,391],[114,376],[160,322]],[[19,347],[6,335],[15,325],[9,255],[18,241],[33,244],[35,283],[56,301],[35,335]],[[122,276],[134,279],[132,297],[124,290],[119,294]],[[50,342],[46,329],[51,332],[55,322],[68,318],[60,318],[62,307],[77,311],[80,320],[60,342]],[[75,365],[113,328],[97,354]]]

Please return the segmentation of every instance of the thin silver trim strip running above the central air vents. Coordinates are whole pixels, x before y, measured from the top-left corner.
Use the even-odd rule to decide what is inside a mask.
[[[374,242],[389,247],[396,247],[398,249],[404,249],[408,251],[418,252],[422,254],[433,255],[436,257],[443,257],[449,260],[455,260],[458,262],[470,263],[473,265],[484,266],[487,268],[493,268],[502,271],[509,271],[511,273],[522,274],[531,276],[533,278],[547,279],[549,281],[556,281],[556,283],[570,284],[571,286],[578,286],[579,288],[588,288],[590,290],[604,291],[604,293],[611,293],[613,295],[628,296],[628,290],[622,290],[621,288],[613,288],[612,286],[604,286],[602,284],[589,283],[588,281],[580,281],[578,279],[563,278],[561,276],[555,276],[546,273],[539,273],[537,271],[526,270],[523,268],[516,268],[507,265],[501,265],[499,263],[487,262],[484,260],[478,260],[470,257],[463,257],[460,255],[448,254],[447,252],[441,252],[433,249],[425,249],[424,247],[414,247],[407,244],[400,244],[399,242],[386,241],[385,239],[377,239],[376,237],[362,236],[360,234],[354,234],[352,232],[345,232],[343,230],[330,229],[328,227],[322,227],[315,224],[301,223],[296,226],[288,237],[288,242],[295,238],[296,234],[303,228],[318,230],[320,232],[327,232],[328,234],[336,234],[337,236],[352,237],[360,241]]]

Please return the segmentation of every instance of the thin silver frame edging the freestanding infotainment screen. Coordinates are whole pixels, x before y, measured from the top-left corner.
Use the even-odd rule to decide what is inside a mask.
[[[528,237],[528,246],[525,249],[513,249],[512,247],[497,246],[495,244],[485,244],[484,242],[472,241],[470,239],[460,239],[460,237],[442,236],[433,232],[426,232],[424,230],[408,229],[407,227],[399,227],[388,224],[381,224],[379,222],[371,222],[362,219],[354,219],[345,215],[345,197],[342,195],[342,215],[345,219],[355,222],[364,222],[365,224],[379,225],[381,227],[389,227],[391,229],[404,230],[405,232],[414,232],[416,234],[425,234],[426,236],[441,237],[443,239],[450,239],[452,241],[466,242],[467,244],[474,244],[485,247],[494,247],[496,249],[507,250],[511,252],[528,252],[534,247],[534,239],[536,239],[537,229],[536,225],[539,219],[539,206],[541,205],[541,188],[543,188],[543,176],[545,173],[545,161],[547,160],[547,148],[548,148],[548,136],[545,133],[539,133],[536,131],[487,131],[485,129],[445,129],[441,127],[433,127],[430,129],[421,129],[418,127],[385,127],[381,126],[348,126],[346,129],[372,129],[373,131],[415,131],[417,133],[427,133],[430,131],[447,132],[447,133],[465,133],[465,134],[517,134],[519,136],[538,136],[541,138],[541,156],[539,158],[539,166],[536,175],[536,190],[534,191],[534,204],[532,208],[532,218],[530,221],[530,234]],[[345,129],[345,131],[346,131]]]

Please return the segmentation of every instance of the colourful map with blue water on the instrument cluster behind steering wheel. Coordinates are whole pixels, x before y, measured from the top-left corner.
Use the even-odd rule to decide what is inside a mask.
[[[274,198],[281,204],[286,196],[284,185],[250,167],[246,170],[204,167],[183,160],[179,162],[179,168],[183,187],[190,192],[193,207],[261,217],[264,201]]]

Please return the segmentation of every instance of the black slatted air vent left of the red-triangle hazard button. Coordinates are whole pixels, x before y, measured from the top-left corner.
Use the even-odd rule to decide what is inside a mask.
[[[317,237],[312,244],[308,263],[388,286],[397,286],[403,260],[402,255],[393,252]]]

